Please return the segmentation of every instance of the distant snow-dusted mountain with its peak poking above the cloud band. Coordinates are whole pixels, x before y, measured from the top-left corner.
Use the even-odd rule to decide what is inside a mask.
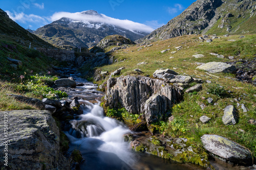
[[[84,17],[102,17],[96,11],[83,11],[80,14]],[[92,47],[108,35],[122,35],[137,40],[148,33],[127,30],[121,27],[110,25],[104,22],[92,22],[84,20],[73,20],[62,17],[49,25],[41,27],[33,32],[38,37],[60,47]]]

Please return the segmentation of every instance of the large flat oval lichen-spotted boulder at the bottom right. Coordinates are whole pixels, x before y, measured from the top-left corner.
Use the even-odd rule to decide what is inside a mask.
[[[219,135],[203,135],[201,140],[204,148],[221,158],[235,164],[252,164],[251,153],[241,145]]]

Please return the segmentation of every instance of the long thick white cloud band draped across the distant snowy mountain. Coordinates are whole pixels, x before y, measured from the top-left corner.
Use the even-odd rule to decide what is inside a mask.
[[[116,19],[112,18],[109,16],[106,16],[104,14],[99,14],[99,15],[87,15],[87,14],[82,14],[80,12],[76,13],[70,13],[70,12],[56,12],[51,16],[51,21],[58,20],[62,17],[67,17],[70,19],[73,19],[75,21],[83,20],[83,21],[89,21],[89,22],[104,22],[110,25],[114,25],[117,27],[121,27],[127,30],[131,31],[142,31],[146,33],[151,33],[154,31],[153,28],[150,26],[146,26],[142,23],[134,22],[131,20],[121,20],[121,19]]]

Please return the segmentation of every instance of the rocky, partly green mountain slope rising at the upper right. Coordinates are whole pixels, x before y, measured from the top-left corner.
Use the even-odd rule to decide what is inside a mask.
[[[137,42],[165,40],[190,34],[255,33],[255,0],[198,0],[165,26]]]

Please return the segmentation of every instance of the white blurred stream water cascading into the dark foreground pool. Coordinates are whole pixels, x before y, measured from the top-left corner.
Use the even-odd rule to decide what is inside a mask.
[[[203,169],[196,165],[179,164],[131,150],[123,135],[131,134],[129,128],[116,119],[103,115],[100,99],[104,93],[86,80],[75,78],[84,86],[69,92],[69,98],[78,96],[83,114],[71,120],[72,128],[65,132],[71,144],[70,150],[78,149],[84,159],[80,169]],[[226,168],[223,168],[226,169]]]

